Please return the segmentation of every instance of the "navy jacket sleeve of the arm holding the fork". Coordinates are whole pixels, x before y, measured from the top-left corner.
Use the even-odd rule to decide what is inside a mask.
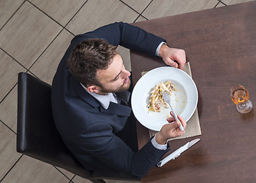
[[[142,149],[133,152],[112,131],[112,127],[104,122],[91,125],[80,133],[77,145],[117,172],[125,172],[137,178],[146,175],[168,151],[156,149],[149,140]]]

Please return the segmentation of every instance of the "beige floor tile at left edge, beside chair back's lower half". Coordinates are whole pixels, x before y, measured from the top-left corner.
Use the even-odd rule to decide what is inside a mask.
[[[16,152],[16,135],[0,121],[0,180],[21,157]],[[11,181],[9,181],[11,182]]]

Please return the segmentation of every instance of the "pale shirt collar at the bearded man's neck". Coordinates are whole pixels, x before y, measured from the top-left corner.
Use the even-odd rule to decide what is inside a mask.
[[[82,83],[80,83],[80,85],[84,88],[84,90],[85,90],[86,92],[88,92],[88,91],[87,91],[87,88],[86,88]],[[94,98],[96,98],[97,101],[100,101],[100,104],[102,105],[102,107],[103,107],[104,109],[109,108],[109,106],[110,106],[110,101],[112,101],[113,103],[116,103],[116,104],[117,104],[117,98],[115,98],[115,97],[113,96],[113,93],[107,93],[107,95],[98,95],[98,94],[92,93],[92,92],[88,92],[88,93],[89,93],[90,95],[92,95]]]

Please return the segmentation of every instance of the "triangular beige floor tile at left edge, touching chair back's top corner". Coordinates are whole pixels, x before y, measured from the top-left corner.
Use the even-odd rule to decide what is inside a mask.
[[[26,69],[2,50],[0,50],[0,58],[0,101],[2,101],[18,81],[18,72],[24,72]]]

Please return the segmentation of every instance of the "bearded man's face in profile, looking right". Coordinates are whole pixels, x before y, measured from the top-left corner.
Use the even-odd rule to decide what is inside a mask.
[[[97,79],[102,84],[98,94],[126,91],[130,87],[129,76],[130,72],[124,68],[123,59],[117,54],[107,69],[97,71]]]

